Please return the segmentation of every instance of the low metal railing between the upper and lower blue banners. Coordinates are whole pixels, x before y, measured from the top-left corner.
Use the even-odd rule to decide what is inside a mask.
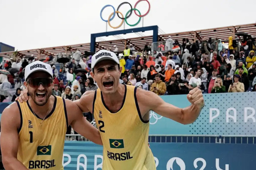
[[[89,141],[79,134],[66,135],[66,140]],[[256,144],[256,136],[250,135],[149,135],[148,142],[162,143],[236,143]]]

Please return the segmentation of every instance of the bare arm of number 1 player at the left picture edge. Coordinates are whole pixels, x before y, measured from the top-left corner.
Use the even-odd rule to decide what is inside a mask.
[[[1,152],[2,162],[8,170],[28,170],[18,159],[18,128],[20,124],[19,108],[17,103],[6,107],[1,116]]]

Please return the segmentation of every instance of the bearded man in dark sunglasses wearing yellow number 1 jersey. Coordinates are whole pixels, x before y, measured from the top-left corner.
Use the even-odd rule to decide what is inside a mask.
[[[52,96],[53,71],[36,61],[25,68],[27,102],[14,102],[1,117],[1,152],[7,170],[63,170],[62,156],[67,127],[101,144],[98,129],[83,116],[77,105]]]

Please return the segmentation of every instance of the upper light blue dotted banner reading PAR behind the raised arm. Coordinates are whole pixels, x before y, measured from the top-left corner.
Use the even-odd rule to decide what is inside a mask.
[[[186,95],[161,98],[177,107],[190,105]],[[150,113],[150,135],[256,135],[256,92],[204,94],[205,106],[198,119],[188,125]],[[10,103],[0,103],[0,113]],[[171,111],[170,111],[171,112]]]

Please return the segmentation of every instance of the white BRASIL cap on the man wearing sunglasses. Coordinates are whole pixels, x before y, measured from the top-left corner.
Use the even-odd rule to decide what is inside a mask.
[[[44,63],[44,62],[35,61],[25,67],[25,81],[27,81],[27,78],[29,77],[30,74],[32,74],[33,72],[36,72],[36,71],[47,72],[53,78],[53,69],[52,69],[51,65]]]

